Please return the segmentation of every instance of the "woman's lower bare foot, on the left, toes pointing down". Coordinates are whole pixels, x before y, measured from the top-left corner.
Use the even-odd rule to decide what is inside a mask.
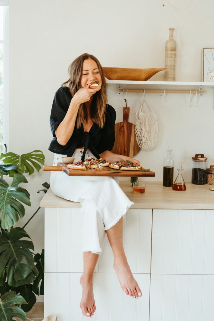
[[[96,310],[92,279],[89,280],[82,275],[80,278],[80,283],[82,286],[82,299],[80,302],[82,314],[85,317],[92,317],[94,311]]]

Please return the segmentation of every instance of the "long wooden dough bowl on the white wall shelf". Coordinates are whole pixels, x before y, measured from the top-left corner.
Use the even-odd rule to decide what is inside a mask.
[[[115,68],[115,67],[103,67],[104,76],[109,80],[137,80],[146,81],[150,79],[154,74],[166,68]]]

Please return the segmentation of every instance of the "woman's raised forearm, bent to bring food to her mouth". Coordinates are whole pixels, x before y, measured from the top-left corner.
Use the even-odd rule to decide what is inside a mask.
[[[72,99],[68,111],[55,134],[60,145],[65,145],[71,138],[76,122],[79,105]]]

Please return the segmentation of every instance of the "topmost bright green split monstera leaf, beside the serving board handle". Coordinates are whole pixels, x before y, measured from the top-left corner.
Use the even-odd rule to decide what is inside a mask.
[[[1,153],[0,159],[2,159],[4,163],[12,163],[14,165],[18,165],[22,173],[29,173],[29,175],[34,172],[34,168],[30,165],[30,163],[38,172],[41,169],[41,166],[38,164],[38,162],[42,165],[44,165],[45,163],[45,156],[43,155],[42,151],[39,150],[21,155],[12,152]]]

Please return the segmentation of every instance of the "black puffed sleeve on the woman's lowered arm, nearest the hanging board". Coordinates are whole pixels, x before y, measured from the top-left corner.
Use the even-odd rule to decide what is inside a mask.
[[[101,139],[98,145],[98,153],[101,154],[105,151],[111,151],[115,143],[115,109],[107,105],[106,108],[106,121],[101,131]]]

